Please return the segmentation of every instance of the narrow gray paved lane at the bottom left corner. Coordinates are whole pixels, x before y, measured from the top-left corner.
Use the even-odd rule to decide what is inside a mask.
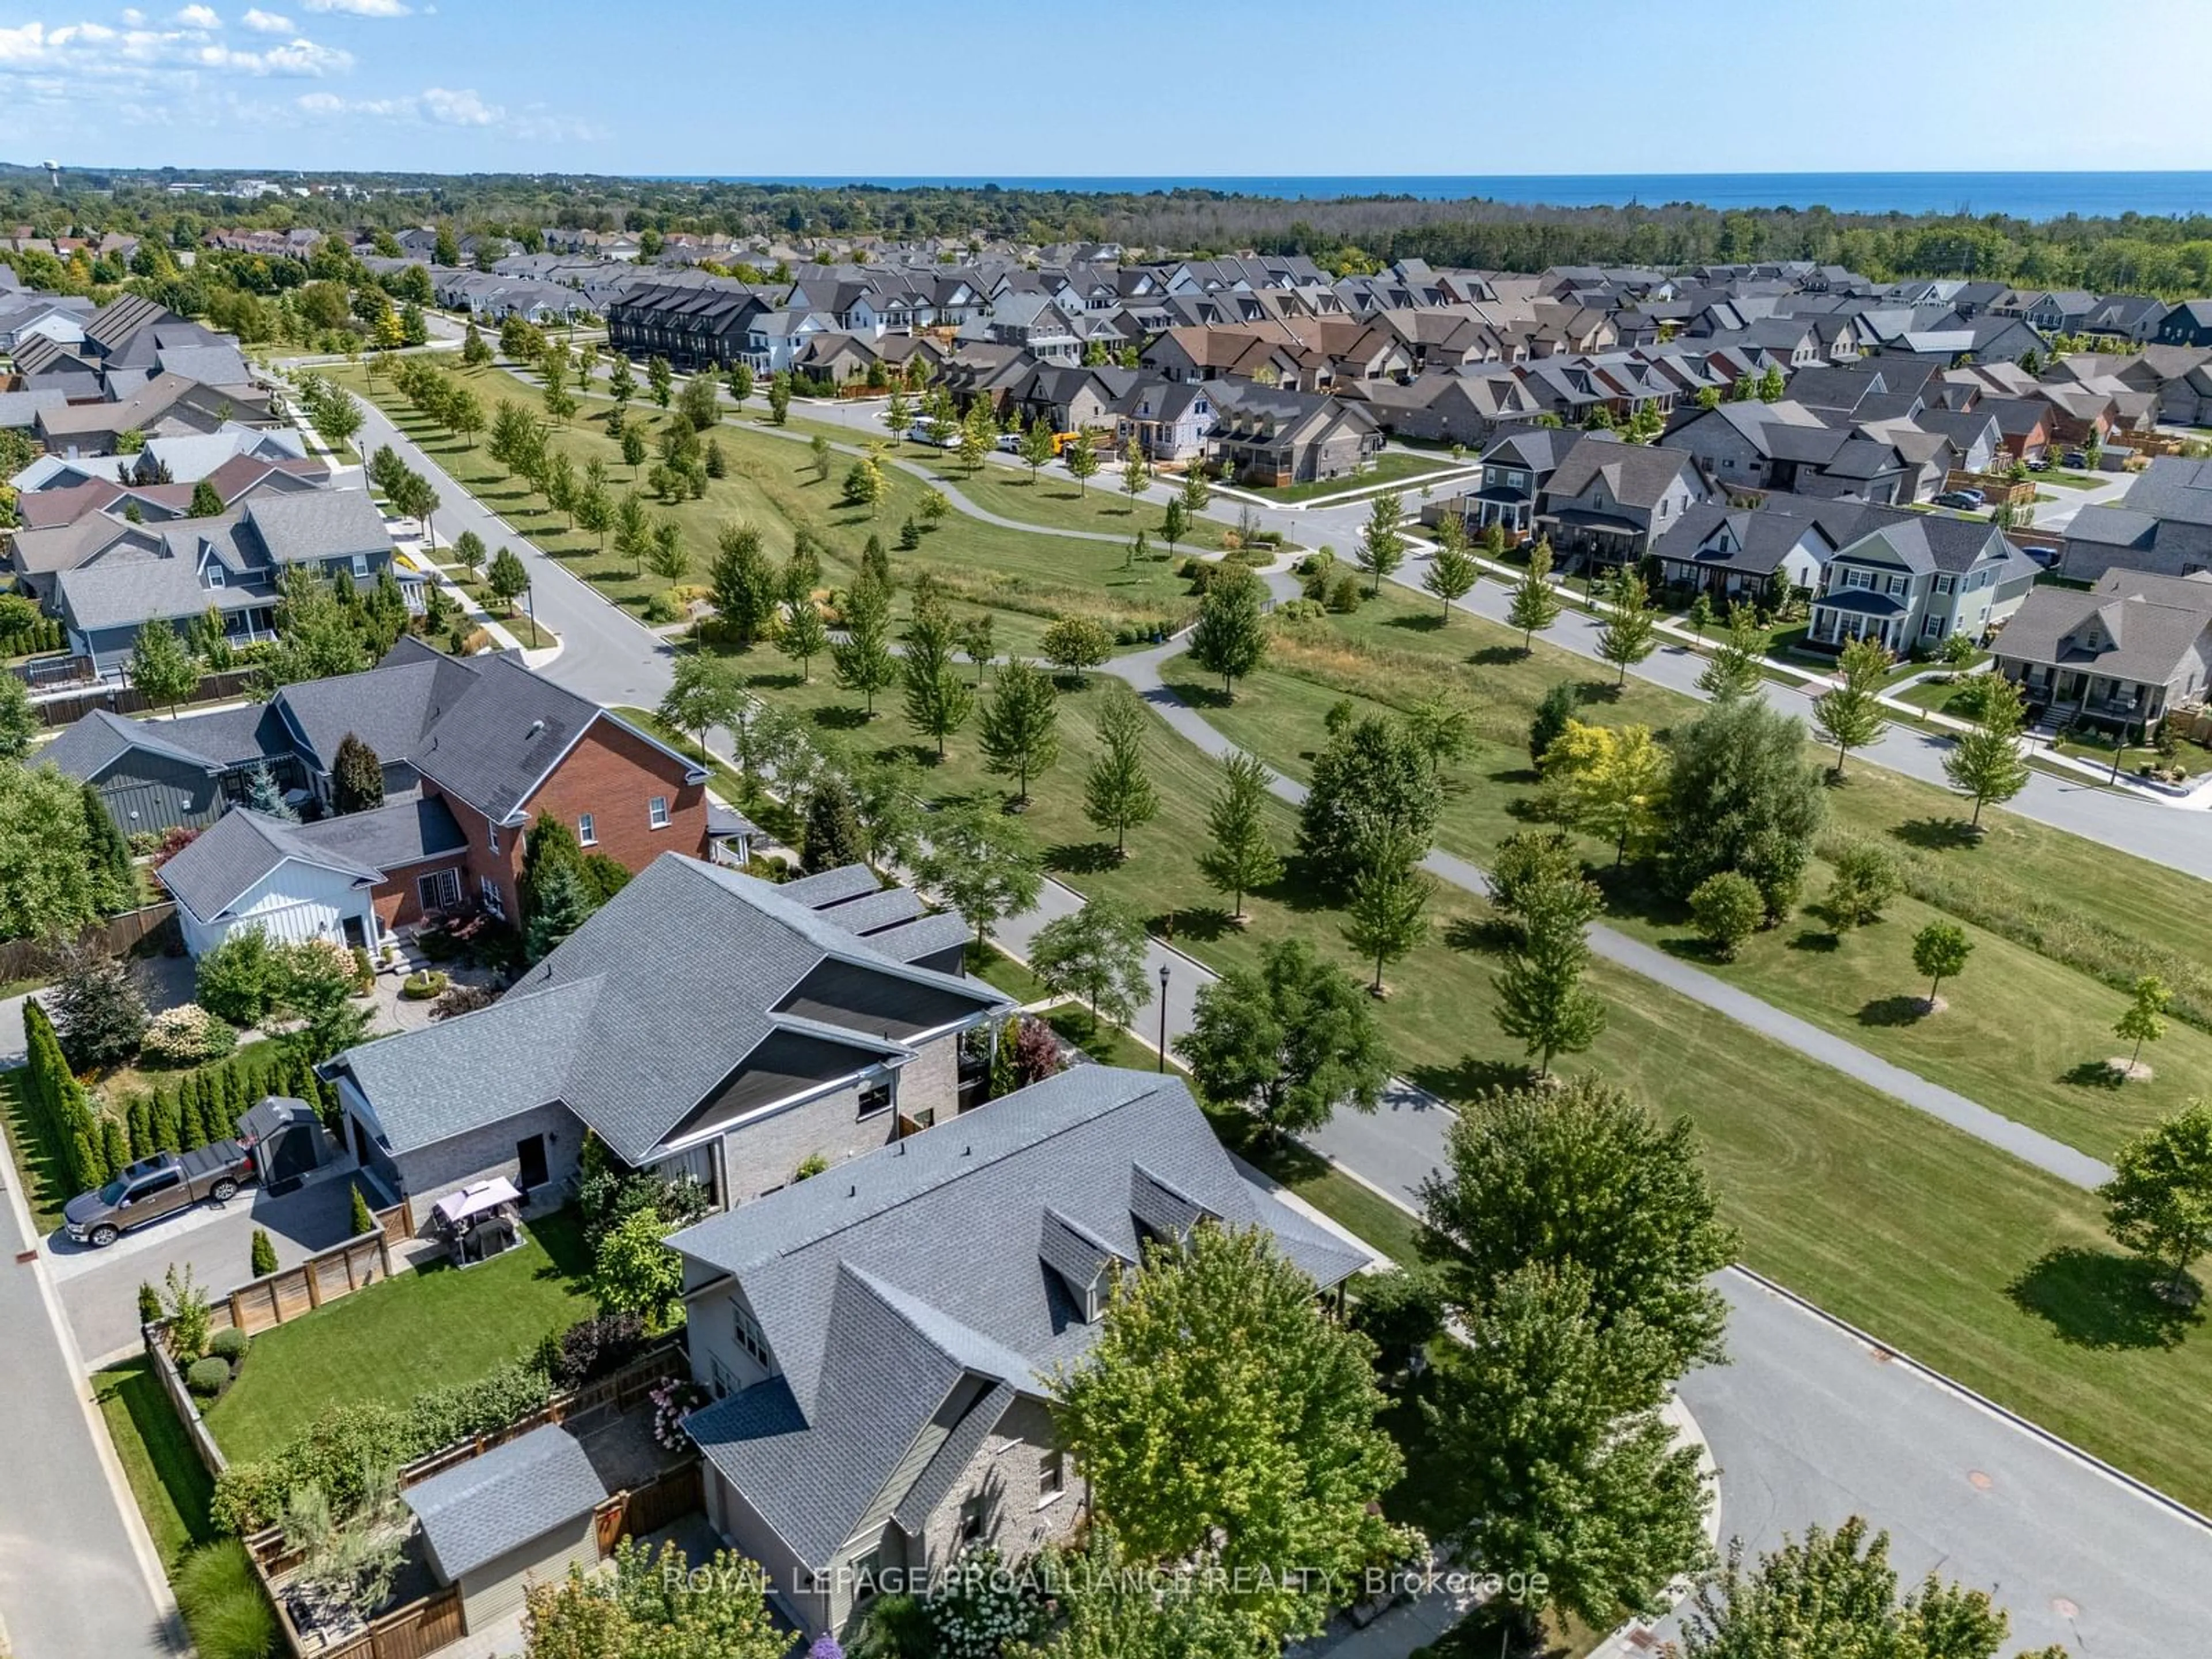
[[[0,1161],[0,1183],[13,1172]],[[7,1192],[0,1265],[0,1624],[15,1659],[153,1659],[181,1652],[175,1608],[144,1544],[88,1385],[62,1340],[20,1194]],[[133,1533],[137,1528],[137,1533]],[[144,1548],[144,1553],[142,1553]],[[0,1644],[4,1646],[4,1644]]]

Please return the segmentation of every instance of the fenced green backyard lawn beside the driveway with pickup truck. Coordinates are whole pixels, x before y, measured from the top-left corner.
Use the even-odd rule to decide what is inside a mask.
[[[230,1458],[261,1458],[332,1400],[405,1405],[533,1352],[593,1312],[568,1212],[526,1223],[529,1241],[476,1267],[396,1274],[254,1338],[239,1380],[208,1411]]]

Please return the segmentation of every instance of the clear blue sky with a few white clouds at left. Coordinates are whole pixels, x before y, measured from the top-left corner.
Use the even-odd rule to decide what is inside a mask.
[[[2212,4],[0,0],[0,157],[241,170],[2212,168]],[[529,31],[522,24],[526,20]]]

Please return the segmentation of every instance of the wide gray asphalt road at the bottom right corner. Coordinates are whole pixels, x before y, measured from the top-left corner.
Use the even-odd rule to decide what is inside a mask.
[[[1865,1515],[1907,1584],[1936,1571],[1989,1590],[2013,1619],[2004,1652],[2208,1650],[2212,1531],[1747,1274],[1719,1285],[1734,1363],[1692,1371],[1681,1396],[1721,1464],[1730,1535],[1774,1548]]]

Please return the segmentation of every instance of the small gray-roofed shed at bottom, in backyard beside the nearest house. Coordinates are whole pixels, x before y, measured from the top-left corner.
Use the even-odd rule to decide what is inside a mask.
[[[493,1447],[482,1458],[409,1486],[440,1584],[460,1588],[469,1630],[489,1630],[522,1608],[531,1584],[599,1562],[593,1511],[606,1484],[584,1444],[560,1425]]]

